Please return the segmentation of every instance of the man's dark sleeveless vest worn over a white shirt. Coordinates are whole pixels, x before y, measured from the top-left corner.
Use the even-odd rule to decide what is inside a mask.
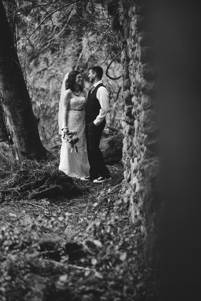
[[[105,86],[102,83],[100,83],[93,89],[92,93],[91,90],[88,93],[86,108],[85,108],[86,123],[90,121],[94,121],[96,117],[99,115],[101,105],[99,103],[98,98],[96,97],[96,93],[98,91],[98,88],[100,87],[105,87]]]

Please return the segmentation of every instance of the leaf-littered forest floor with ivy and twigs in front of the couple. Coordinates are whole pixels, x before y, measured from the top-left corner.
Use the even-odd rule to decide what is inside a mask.
[[[159,300],[140,218],[130,223],[116,184],[123,167],[108,168],[112,180],[102,185],[74,179],[88,189],[82,196],[19,195],[0,205],[1,301]]]

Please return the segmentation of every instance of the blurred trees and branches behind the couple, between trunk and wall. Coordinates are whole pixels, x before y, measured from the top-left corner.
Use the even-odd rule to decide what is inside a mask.
[[[110,94],[111,135],[122,129],[118,35],[109,1],[4,1],[43,143],[58,140],[58,102],[64,75],[79,70],[90,88],[88,69],[101,65]],[[51,142],[52,143],[52,142]]]

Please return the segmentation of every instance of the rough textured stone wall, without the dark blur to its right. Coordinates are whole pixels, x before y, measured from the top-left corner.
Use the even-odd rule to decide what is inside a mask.
[[[119,2],[122,94],[124,100],[124,193],[130,216],[145,234],[146,257],[158,257],[156,232],[161,211],[159,184],[158,86],[155,43],[148,2]],[[157,255],[156,255],[157,254]]]

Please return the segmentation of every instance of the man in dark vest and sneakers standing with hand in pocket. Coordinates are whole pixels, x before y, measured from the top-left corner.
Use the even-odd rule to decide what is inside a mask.
[[[90,175],[83,181],[103,183],[111,180],[110,172],[99,149],[102,131],[105,128],[105,116],[109,111],[108,91],[102,83],[103,70],[100,66],[90,68],[89,79],[93,83],[86,103],[86,145],[90,164]]]

